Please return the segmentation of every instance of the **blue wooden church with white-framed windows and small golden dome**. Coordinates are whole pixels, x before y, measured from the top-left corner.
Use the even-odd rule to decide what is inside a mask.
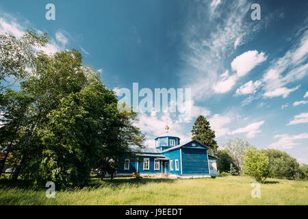
[[[139,172],[147,177],[216,177],[216,159],[207,153],[208,147],[196,140],[181,144],[180,138],[166,135],[155,138],[155,148],[142,149],[138,159],[129,156],[120,160],[116,175],[131,176]]]

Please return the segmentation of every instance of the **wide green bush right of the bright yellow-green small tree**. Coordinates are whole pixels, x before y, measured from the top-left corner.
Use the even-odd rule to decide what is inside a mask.
[[[299,177],[300,166],[296,159],[276,149],[262,150],[269,159],[270,177],[296,179]]]

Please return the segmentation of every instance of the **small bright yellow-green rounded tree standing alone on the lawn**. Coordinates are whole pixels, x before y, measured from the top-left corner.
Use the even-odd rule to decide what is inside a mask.
[[[255,177],[259,183],[264,183],[269,175],[268,157],[255,147],[245,151],[243,169],[246,175]]]

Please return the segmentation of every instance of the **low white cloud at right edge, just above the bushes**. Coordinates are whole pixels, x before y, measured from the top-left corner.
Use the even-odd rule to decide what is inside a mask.
[[[287,134],[277,135],[274,138],[280,138],[278,142],[270,144],[271,149],[292,149],[293,146],[298,145],[294,140],[303,140],[308,138],[308,133],[301,133],[297,136],[289,136]]]

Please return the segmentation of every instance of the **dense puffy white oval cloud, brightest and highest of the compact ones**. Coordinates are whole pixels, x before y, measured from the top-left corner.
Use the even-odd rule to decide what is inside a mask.
[[[246,51],[242,55],[235,57],[231,63],[231,67],[236,71],[238,77],[242,77],[266,59],[267,57],[263,52],[259,53],[256,50]]]

